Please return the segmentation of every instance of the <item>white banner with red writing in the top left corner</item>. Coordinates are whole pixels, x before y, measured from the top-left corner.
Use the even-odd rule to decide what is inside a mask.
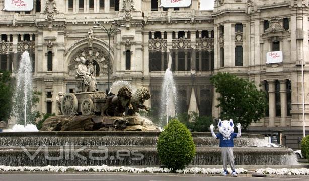
[[[31,11],[33,0],[4,0],[3,11]]]

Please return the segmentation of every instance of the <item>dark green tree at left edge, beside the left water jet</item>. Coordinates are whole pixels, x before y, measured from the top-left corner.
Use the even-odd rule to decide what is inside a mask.
[[[12,110],[13,83],[9,71],[0,73],[0,121],[7,122]]]

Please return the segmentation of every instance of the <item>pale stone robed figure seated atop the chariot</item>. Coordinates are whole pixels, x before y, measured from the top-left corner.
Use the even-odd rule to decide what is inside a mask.
[[[90,73],[88,67],[85,65],[86,59],[84,57],[80,58],[80,64],[76,68],[76,74],[83,79],[85,85],[85,91],[96,92],[97,80],[96,77]]]

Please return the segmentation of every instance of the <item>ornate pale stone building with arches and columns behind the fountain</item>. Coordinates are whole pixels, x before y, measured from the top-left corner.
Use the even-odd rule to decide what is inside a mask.
[[[156,110],[171,64],[180,110],[218,117],[209,78],[230,72],[253,80],[268,91],[269,109],[250,130],[270,135],[282,131],[283,144],[297,148],[302,135],[300,65],[309,57],[308,1],[220,0],[214,10],[199,10],[198,0],[187,8],[158,8],[160,2],[35,0],[31,12],[1,11],[0,68],[16,72],[21,52],[28,50],[34,89],[43,93],[38,109],[56,112],[57,93],[76,91],[74,71],[81,56],[92,61],[98,89],[108,87],[109,37],[93,26],[109,28],[116,22],[122,30],[110,39],[111,81],[148,87],[152,97],[147,104]],[[283,52],[283,62],[266,64],[266,53],[277,50]],[[307,66],[304,79],[308,128]]]

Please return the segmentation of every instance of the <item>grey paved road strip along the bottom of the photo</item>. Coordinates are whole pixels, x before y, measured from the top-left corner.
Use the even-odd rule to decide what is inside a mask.
[[[259,178],[259,177],[222,177],[222,176],[202,176],[202,175],[168,175],[168,174],[60,174],[60,173],[25,173],[25,174],[0,174],[1,181],[307,181],[307,178]]]

